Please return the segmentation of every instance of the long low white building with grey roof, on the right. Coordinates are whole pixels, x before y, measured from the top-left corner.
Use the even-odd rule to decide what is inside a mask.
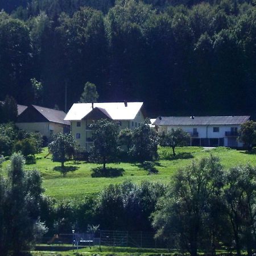
[[[191,134],[191,146],[242,147],[237,141],[242,123],[249,121],[249,115],[213,117],[158,117],[154,122],[156,130],[170,131],[181,128]]]

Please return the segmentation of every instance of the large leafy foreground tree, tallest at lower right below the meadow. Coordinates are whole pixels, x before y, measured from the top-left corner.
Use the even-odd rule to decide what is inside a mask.
[[[214,156],[181,168],[154,213],[156,236],[175,242],[177,248],[189,251],[191,256],[197,255],[205,239],[212,246],[207,226],[212,221],[212,202],[218,200],[223,186],[224,172]]]

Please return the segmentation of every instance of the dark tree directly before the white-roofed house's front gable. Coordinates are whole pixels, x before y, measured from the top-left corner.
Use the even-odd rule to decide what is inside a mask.
[[[93,122],[92,147],[90,148],[90,160],[94,163],[102,163],[103,170],[106,170],[106,163],[118,159],[118,131],[117,123],[107,119],[100,119]]]

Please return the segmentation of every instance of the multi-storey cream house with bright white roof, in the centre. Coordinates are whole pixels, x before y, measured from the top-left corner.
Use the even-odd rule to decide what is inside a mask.
[[[134,129],[144,122],[143,102],[77,103],[69,110],[65,121],[71,122],[71,133],[77,143],[90,150],[94,120],[106,118],[117,122],[121,129]]]

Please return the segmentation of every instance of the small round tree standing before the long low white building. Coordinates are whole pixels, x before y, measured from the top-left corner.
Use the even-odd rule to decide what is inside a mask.
[[[163,133],[160,135],[161,141],[165,146],[172,147],[172,152],[175,154],[175,147],[186,146],[189,143],[190,135],[186,133],[180,128],[171,129],[171,131],[167,131],[167,133]]]

